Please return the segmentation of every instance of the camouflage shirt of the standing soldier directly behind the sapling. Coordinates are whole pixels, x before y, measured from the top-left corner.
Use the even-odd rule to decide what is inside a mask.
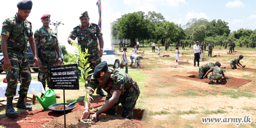
[[[102,35],[98,25],[89,23],[87,29],[84,29],[81,25],[75,27],[70,33],[69,38],[75,40],[77,37],[78,45],[81,46],[82,51],[88,49],[90,56],[96,56],[99,52],[97,37]]]

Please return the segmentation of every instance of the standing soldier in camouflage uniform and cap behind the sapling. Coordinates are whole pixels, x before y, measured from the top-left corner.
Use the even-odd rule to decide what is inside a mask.
[[[71,31],[68,37],[68,42],[72,45],[77,37],[78,45],[81,46],[82,51],[84,52],[85,49],[88,49],[88,54],[90,55],[86,56],[86,58],[88,58],[87,63],[90,63],[90,68],[92,69],[92,72],[89,72],[88,74],[91,74],[94,72],[95,67],[101,62],[100,57],[103,54],[104,46],[102,38],[103,34],[97,24],[89,23],[90,18],[87,11],[83,12],[79,18],[81,25],[76,26]],[[99,39],[100,50],[98,48],[97,38]],[[87,80],[89,79],[91,79],[91,75],[87,77]],[[105,96],[100,86],[97,88],[96,93]]]

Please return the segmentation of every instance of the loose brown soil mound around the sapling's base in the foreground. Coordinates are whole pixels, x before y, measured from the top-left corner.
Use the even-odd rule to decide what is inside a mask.
[[[66,127],[137,127],[137,125],[126,118],[116,117],[111,115],[99,115],[96,123],[82,123],[80,122],[81,113],[83,111],[75,111],[66,115]],[[92,118],[93,113],[90,114]],[[48,122],[46,127],[64,127],[64,115],[54,118]]]

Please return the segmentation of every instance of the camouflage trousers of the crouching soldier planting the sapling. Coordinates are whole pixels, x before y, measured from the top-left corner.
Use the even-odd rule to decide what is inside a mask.
[[[121,103],[123,106],[122,110],[122,117],[133,119],[133,110],[136,105],[136,101],[140,95],[140,89],[137,84],[137,82],[134,81],[132,87],[127,90],[127,93],[121,95],[118,99],[118,102],[114,104],[108,111],[106,111],[106,114],[110,115],[117,115],[117,106]],[[111,96],[108,94],[105,99],[105,103],[111,98]]]

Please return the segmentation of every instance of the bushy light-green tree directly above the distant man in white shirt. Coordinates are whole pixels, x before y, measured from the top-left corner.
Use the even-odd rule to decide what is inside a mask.
[[[193,40],[195,41],[199,41],[202,42],[204,41],[205,38],[205,31],[206,31],[206,27],[203,25],[196,25],[196,27],[193,28],[191,37]]]

